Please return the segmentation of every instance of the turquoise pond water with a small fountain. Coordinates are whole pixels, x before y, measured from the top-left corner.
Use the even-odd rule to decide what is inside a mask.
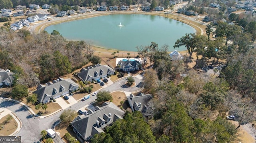
[[[119,26],[121,23],[122,26]],[[106,49],[137,51],[137,46],[150,45],[152,41],[159,47],[169,45],[168,51],[174,51],[173,45],[185,33],[196,30],[182,22],[161,16],[144,14],[113,14],[83,20],[51,25],[45,29],[48,33],[57,30],[68,40],[90,41],[92,45]],[[178,50],[185,50],[180,47]]]

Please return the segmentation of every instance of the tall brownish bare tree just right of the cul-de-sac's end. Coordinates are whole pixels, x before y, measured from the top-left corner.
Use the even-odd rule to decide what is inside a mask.
[[[153,69],[147,69],[144,71],[144,88],[150,92],[156,89],[158,86],[158,77],[156,71]]]

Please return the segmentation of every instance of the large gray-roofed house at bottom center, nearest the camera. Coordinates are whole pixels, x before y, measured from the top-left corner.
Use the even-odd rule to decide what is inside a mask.
[[[112,102],[104,102],[100,108],[96,106],[96,109],[89,110],[88,115],[78,116],[70,123],[77,137],[83,140],[81,142],[92,139],[97,133],[103,133],[106,127],[124,116],[124,111]]]

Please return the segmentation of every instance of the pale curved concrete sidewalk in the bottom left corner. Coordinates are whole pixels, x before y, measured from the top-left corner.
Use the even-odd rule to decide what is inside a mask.
[[[18,118],[18,116],[16,114],[14,114],[11,110],[8,110],[7,108],[1,108],[0,110],[2,113],[0,114],[0,119],[3,118],[4,116],[10,114],[12,116],[12,118],[15,119],[17,125],[17,129],[11,133],[9,136],[15,135],[16,133],[18,133],[20,131],[20,129],[22,128],[22,122],[20,121],[20,119]]]

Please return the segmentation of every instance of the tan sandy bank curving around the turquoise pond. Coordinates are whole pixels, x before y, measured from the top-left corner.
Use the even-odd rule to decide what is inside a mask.
[[[74,20],[81,20],[81,19],[86,19],[86,18],[92,18],[92,17],[96,17],[96,16],[105,16],[105,15],[110,15],[110,14],[149,14],[149,15],[155,15],[155,16],[162,16],[162,17],[166,17],[166,18],[171,18],[174,20],[178,20],[184,24],[188,24],[191,27],[193,27],[194,29],[196,29],[196,33],[197,34],[204,34],[204,30],[200,27],[202,25],[193,22],[192,20],[189,20],[186,17],[182,17],[178,18],[178,15],[176,14],[164,14],[162,13],[156,13],[156,12],[122,12],[122,11],[118,11],[118,12],[97,12],[97,13],[87,13],[87,14],[83,14],[83,15],[78,15],[78,16],[72,16],[71,18],[62,18],[59,20],[52,20],[50,22],[42,22],[40,24],[36,24],[33,26],[33,32],[34,33],[40,33],[40,31],[44,30],[46,27],[50,26],[50,25],[55,25],[55,24],[60,24],[63,22],[70,22],[70,21],[74,21]],[[131,57],[136,57],[136,55],[138,55],[136,51],[122,51],[122,50],[118,50],[118,49],[106,49],[104,47],[98,47],[98,46],[93,46],[93,49],[95,51],[95,55],[98,55],[100,57],[112,57],[112,53],[114,51],[120,51],[119,53],[119,57],[120,55],[122,55],[123,57],[127,56],[127,53],[130,53]],[[179,49],[176,49],[177,51],[179,51]],[[180,53],[182,53],[182,55],[186,54],[187,51],[180,51]]]

